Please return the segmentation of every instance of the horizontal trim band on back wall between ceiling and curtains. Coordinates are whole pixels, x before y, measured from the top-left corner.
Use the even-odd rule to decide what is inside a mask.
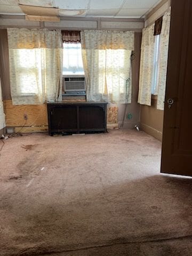
[[[65,25],[66,21],[66,25]],[[73,22],[70,26],[69,22]],[[79,24],[78,23],[82,23]],[[141,32],[144,27],[143,18],[109,18],[109,17],[60,17],[60,22],[27,21],[25,15],[0,14],[0,28],[47,28],[69,30],[119,30]],[[92,24],[89,24],[91,22]],[[93,23],[94,22],[94,23]],[[110,24],[111,22],[111,24]],[[114,26],[114,22],[116,26]],[[105,26],[107,24],[107,26]],[[92,25],[92,26],[90,26]]]

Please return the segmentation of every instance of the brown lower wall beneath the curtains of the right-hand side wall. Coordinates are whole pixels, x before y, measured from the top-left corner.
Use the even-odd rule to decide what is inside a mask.
[[[141,130],[162,141],[164,111],[157,109],[157,99],[152,99],[151,106],[141,106]]]

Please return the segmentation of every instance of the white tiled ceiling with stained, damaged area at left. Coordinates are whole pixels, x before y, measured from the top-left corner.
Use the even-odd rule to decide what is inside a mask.
[[[161,0],[0,0],[0,14],[24,14],[19,6],[58,7],[60,16],[140,18]]]

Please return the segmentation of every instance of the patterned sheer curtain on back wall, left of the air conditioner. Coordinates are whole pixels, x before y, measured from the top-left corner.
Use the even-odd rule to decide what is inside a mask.
[[[60,30],[8,28],[13,105],[62,99]]]

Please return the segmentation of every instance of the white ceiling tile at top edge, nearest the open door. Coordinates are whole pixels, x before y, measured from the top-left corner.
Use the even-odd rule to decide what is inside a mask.
[[[151,8],[156,3],[160,2],[159,0],[126,0],[122,9],[141,9],[141,8]]]

